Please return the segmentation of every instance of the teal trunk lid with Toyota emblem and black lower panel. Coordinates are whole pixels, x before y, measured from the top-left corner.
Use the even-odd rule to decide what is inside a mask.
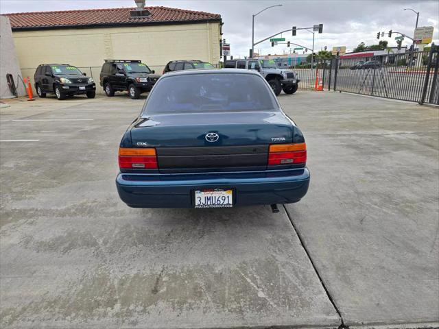
[[[291,143],[281,112],[161,114],[131,130],[134,147],[155,147],[162,173],[248,171],[267,167],[270,143]]]

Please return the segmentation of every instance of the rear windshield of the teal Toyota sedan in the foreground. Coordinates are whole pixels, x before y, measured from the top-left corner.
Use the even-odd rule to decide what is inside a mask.
[[[142,117],[163,113],[265,111],[278,108],[263,77],[210,73],[165,77],[147,98]]]

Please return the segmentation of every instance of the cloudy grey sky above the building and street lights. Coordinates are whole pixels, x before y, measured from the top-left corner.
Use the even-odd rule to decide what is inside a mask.
[[[221,14],[224,22],[224,38],[230,42],[232,55],[246,56],[251,45],[252,14],[256,14],[270,5],[270,8],[255,18],[255,41],[266,38],[276,32],[297,27],[310,27],[323,23],[323,34],[316,34],[314,49],[324,46],[346,46],[353,49],[359,42],[366,45],[377,43],[377,32],[386,32],[383,40],[395,46],[394,36],[388,38],[392,29],[413,35],[416,14],[404,8],[420,12],[418,26],[434,26],[434,42],[439,43],[439,1],[366,1],[366,0],[147,0],[146,5],[163,5],[189,10],[201,10]],[[0,0],[0,12],[32,12],[46,10],[73,10],[88,8],[134,7],[134,0]],[[312,34],[299,31],[297,36],[291,32],[283,34],[286,40],[311,48]],[[381,39],[380,39],[381,40]],[[410,45],[405,39],[403,45]],[[255,47],[263,54],[289,51],[286,45],[271,47],[265,41]]]

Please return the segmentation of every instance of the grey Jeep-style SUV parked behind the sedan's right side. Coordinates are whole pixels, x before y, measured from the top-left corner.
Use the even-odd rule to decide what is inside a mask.
[[[267,80],[274,94],[294,94],[300,80],[294,71],[279,69],[274,60],[226,60],[225,68],[256,70]]]

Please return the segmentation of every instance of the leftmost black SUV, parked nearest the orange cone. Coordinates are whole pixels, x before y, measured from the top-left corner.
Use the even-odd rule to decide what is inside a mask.
[[[96,84],[86,73],[70,64],[40,64],[34,74],[35,89],[38,97],[55,93],[56,98],[86,94],[95,98]]]

